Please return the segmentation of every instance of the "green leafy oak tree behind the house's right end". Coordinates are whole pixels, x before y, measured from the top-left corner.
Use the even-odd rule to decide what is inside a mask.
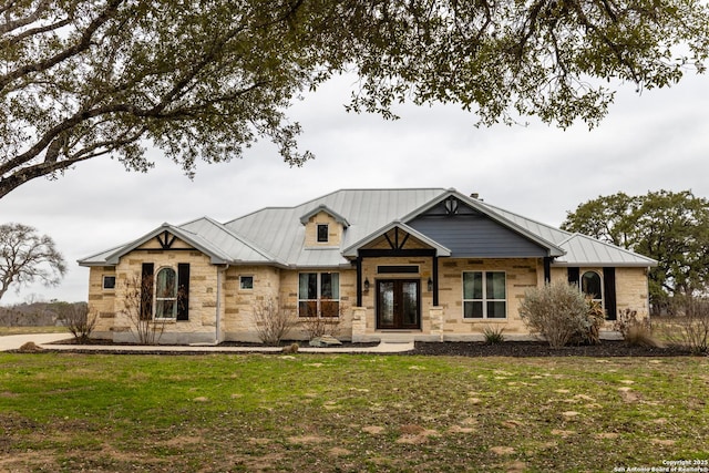
[[[665,307],[670,296],[709,289],[709,200],[691,191],[618,193],[580,204],[562,229],[578,232],[649,256],[650,302]]]

